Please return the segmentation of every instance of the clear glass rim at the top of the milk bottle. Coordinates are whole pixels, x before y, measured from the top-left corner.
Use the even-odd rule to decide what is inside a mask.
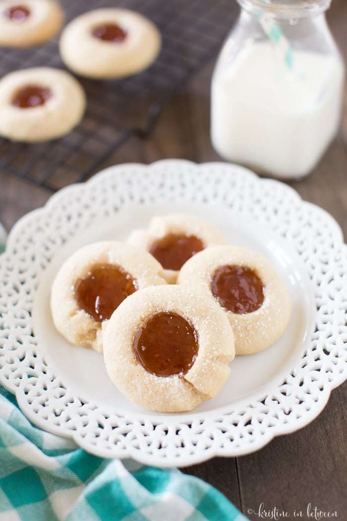
[[[237,0],[243,9],[261,10],[273,18],[304,18],[329,9],[331,0]]]

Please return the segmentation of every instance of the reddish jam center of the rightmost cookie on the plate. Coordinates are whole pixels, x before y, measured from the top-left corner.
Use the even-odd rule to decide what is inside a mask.
[[[239,315],[256,311],[264,302],[263,283],[247,266],[223,266],[217,269],[211,289],[223,307]]]

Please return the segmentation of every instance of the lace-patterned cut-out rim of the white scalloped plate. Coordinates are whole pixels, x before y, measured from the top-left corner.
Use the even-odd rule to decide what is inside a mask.
[[[193,412],[170,421],[114,415],[72,395],[63,375],[54,374],[42,357],[31,317],[38,280],[55,252],[95,218],[116,215],[127,204],[178,199],[232,208],[289,241],[314,287],[315,331],[276,389],[265,386],[261,395],[246,397],[237,408],[230,405],[228,413]],[[61,190],[12,229],[0,257],[0,380],[16,393],[33,423],[100,456],[185,466],[258,450],[274,436],[312,421],[331,389],[346,378],[347,248],[342,241],[340,227],[325,210],[303,202],[287,185],[239,166],[163,160],[110,167],[85,184]]]

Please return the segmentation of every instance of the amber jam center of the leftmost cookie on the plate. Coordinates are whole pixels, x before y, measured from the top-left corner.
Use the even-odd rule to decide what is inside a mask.
[[[95,266],[85,279],[75,283],[78,305],[97,322],[108,320],[114,309],[137,290],[136,280],[118,266]]]

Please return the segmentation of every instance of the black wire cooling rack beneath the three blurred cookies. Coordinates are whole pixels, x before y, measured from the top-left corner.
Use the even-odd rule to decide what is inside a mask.
[[[236,14],[235,0],[62,0],[67,21],[89,9],[127,7],[148,16],[161,30],[157,61],[119,81],[79,78],[87,93],[81,124],[66,137],[40,144],[0,140],[0,168],[55,191],[95,173],[133,135],[145,139],[160,111],[190,76],[214,59]],[[58,39],[33,49],[0,49],[0,74],[36,66],[61,67]]]

